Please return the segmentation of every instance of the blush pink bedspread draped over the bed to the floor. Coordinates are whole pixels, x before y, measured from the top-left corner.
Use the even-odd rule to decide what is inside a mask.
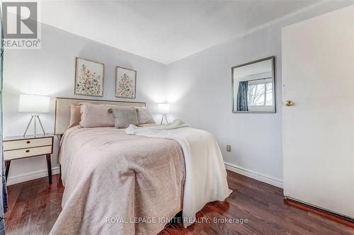
[[[185,164],[174,140],[72,127],[59,163],[65,190],[50,234],[157,234],[183,207]]]

